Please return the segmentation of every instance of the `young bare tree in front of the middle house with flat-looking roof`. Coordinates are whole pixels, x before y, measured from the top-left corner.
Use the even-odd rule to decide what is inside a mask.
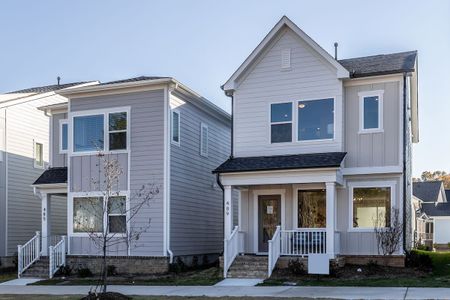
[[[108,252],[112,247],[122,247],[129,255],[131,247],[137,247],[140,236],[150,228],[148,222],[133,222],[144,207],[149,207],[151,201],[159,193],[155,184],[141,186],[132,195],[120,192],[119,182],[123,169],[118,159],[111,155],[97,153],[99,176],[92,178],[93,190],[99,192],[98,197],[82,198],[83,208],[74,215],[74,229],[77,232],[86,232],[94,245],[102,253],[102,268],[99,284],[100,292],[106,293],[108,285]],[[127,200],[127,196],[128,200]],[[74,198],[74,207],[77,205]],[[87,204],[86,204],[87,202]],[[89,209],[89,213],[83,213]],[[125,248],[125,249],[124,249]]]

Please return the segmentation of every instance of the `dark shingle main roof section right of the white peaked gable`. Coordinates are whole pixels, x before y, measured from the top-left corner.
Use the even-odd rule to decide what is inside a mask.
[[[413,72],[417,51],[341,59],[339,63],[350,72],[350,77],[367,77]]]

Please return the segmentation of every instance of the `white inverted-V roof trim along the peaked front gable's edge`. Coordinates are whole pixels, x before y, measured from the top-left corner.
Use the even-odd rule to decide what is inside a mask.
[[[231,75],[231,77],[222,86],[223,90],[233,90],[235,88],[235,81],[239,76],[245,72],[250,65],[259,57],[259,55],[266,49],[266,47],[275,39],[279,32],[284,28],[291,29],[302,40],[304,40],[311,48],[313,48],[319,55],[321,55],[326,61],[333,65],[337,69],[338,78],[348,78],[349,72],[345,69],[337,60],[335,60],[327,51],[325,51],[319,44],[317,44],[312,38],[310,38],[303,30],[301,30],[294,22],[288,17],[283,16],[280,21],[270,30],[266,37],[259,43],[259,45],[253,50],[253,52],[247,57],[247,59],[240,65],[240,67]]]

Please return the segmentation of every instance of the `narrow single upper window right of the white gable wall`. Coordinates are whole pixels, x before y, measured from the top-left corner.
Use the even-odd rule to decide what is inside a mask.
[[[361,92],[359,95],[360,132],[383,130],[383,91]]]

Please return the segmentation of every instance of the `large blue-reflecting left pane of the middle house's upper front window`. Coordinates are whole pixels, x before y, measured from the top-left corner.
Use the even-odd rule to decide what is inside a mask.
[[[104,150],[104,115],[73,118],[73,151]]]

